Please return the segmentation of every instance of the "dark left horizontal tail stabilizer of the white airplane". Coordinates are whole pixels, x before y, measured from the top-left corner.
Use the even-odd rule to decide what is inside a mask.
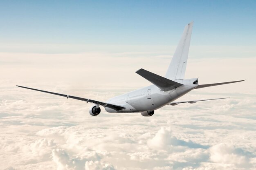
[[[170,79],[166,79],[160,75],[146,71],[142,68],[136,71],[136,73],[147,79],[149,82],[155,84],[155,86],[160,88],[161,91],[169,91],[183,85]]]

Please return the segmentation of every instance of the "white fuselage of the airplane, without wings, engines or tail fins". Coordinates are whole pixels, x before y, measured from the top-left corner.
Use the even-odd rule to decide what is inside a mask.
[[[131,91],[124,95],[119,95],[108,99],[107,103],[124,106],[122,110],[114,110],[105,107],[109,113],[134,113],[148,110],[157,110],[175,99],[189,93],[197,84],[184,84],[171,91],[161,91],[157,86],[151,85]]]

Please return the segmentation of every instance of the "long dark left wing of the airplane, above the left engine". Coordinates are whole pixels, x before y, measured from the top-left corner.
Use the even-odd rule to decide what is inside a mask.
[[[18,86],[18,85],[16,85],[16,86]],[[44,92],[44,93],[50,93],[50,94],[53,94],[53,95],[63,96],[63,97],[67,97],[67,99],[68,98],[72,98],[72,99],[82,100],[82,101],[85,101],[87,103],[89,102],[89,103],[99,104],[99,105],[101,105],[103,107],[112,108],[114,110],[121,110],[121,109],[125,108],[123,106],[118,106],[118,105],[109,104],[109,103],[105,103],[105,102],[99,102],[97,100],[86,99],[86,98],[82,98],[82,97],[64,95],[64,94],[54,93],[54,92],[49,92],[49,91],[42,91],[42,90],[38,90],[38,89],[35,89],[35,88],[29,88],[29,87],[24,87],[24,86],[18,86],[18,87],[27,88],[27,89],[30,89],[30,90],[40,91],[40,92]]]

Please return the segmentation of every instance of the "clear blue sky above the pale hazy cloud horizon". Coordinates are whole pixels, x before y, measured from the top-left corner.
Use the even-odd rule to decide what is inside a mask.
[[[256,1],[2,0],[0,44],[256,45]]]

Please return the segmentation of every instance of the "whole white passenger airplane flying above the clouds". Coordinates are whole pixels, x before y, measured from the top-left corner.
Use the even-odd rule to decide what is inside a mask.
[[[185,26],[181,40],[173,55],[173,59],[171,60],[171,64],[168,67],[165,77],[151,73],[141,68],[138,71],[136,71],[136,73],[147,79],[149,82],[152,83],[152,85],[140,88],[138,90],[126,93],[124,95],[119,95],[117,97],[110,98],[106,102],[99,102],[97,100],[82,97],[64,95],[49,91],[42,91],[24,86],[17,86],[35,91],[50,93],[53,95],[59,95],[67,98],[82,100],[87,103],[93,103],[94,105],[89,110],[89,113],[92,116],[99,115],[99,113],[101,112],[101,108],[99,106],[103,106],[105,110],[109,113],[141,113],[142,116],[152,116],[154,114],[154,110],[162,108],[163,106],[166,106],[168,104],[175,106],[180,103],[193,104],[199,101],[216,100],[204,99],[184,102],[173,102],[176,99],[185,95],[186,93],[189,93],[193,89],[244,81],[240,80],[234,82],[222,82],[215,84],[199,85],[198,78],[184,79],[186,63],[189,54],[192,27],[193,22]]]

